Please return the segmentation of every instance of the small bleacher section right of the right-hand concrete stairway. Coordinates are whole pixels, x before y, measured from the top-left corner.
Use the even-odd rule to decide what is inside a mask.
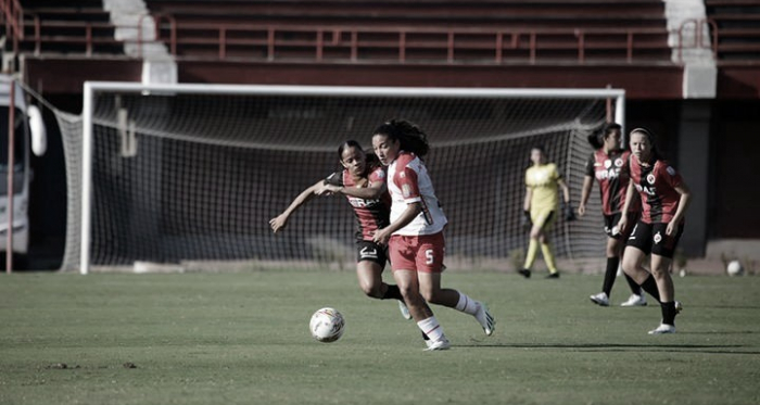
[[[760,1],[706,0],[718,29],[719,61],[760,61]]]

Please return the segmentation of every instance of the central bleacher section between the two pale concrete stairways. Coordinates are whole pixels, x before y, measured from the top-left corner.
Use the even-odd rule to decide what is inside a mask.
[[[147,4],[167,16],[162,38],[174,31],[179,58],[631,63],[671,54],[658,0]]]

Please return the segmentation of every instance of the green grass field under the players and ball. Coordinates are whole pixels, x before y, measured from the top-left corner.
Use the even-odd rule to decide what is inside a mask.
[[[448,271],[497,329],[433,307],[453,347],[429,353],[351,271],[2,275],[0,404],[760,403],[760,277],[677,278],[679,333],[657,337],[659,306],[597,307],[600,283]],[[335,343],[308,333],[321,306]]]

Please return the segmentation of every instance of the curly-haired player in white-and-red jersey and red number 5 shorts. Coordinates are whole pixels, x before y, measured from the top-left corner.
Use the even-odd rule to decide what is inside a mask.
[[[409,122],[392,119],[375,130],[372,148],[380,162],[388,165],[392,200],[391,224],[378,229],[373,240],[389,246],[393,278],[413,318],[430,337],[427,350],[446,350],[451,344],[425,301],[474,316],[491,336],[495,322],[484,304],[457,290],[441,288],[447,219],[420,160],[428,153],[427,135]]]

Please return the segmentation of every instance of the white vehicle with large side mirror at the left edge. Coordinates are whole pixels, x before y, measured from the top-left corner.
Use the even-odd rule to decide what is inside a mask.
[[[40,156],[47,149],[42,115],[35,105],[27,105],[24,90],[8,75],[0,75],[0,252],[7,251],[8,240],[8,174],[9,126],[11,116],[11,84],[14,84],[13,127],[13,253],[26,255],[29,249],[29,151]],[[4,267],[4,265],[2,265]]]

